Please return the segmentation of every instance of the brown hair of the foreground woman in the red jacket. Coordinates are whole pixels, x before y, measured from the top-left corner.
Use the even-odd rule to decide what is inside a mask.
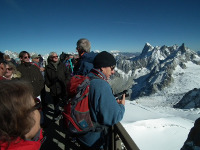
[[[0,141],[11,142],[25,135],[34,126],[32,88],[22,81],[0,81]]]

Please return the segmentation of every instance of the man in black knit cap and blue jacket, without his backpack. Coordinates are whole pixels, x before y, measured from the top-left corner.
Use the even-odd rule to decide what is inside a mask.
[[[93,122],[99,130],[77,136],[84,149],[103,149],[108,137],[109,127],[122,120],[125,112],[125,95],[116,100],[108,83],[115,73],[116,60],[112,54],[103,51],[94,58],[94,68],[87,75],[90,81],[89,107]]]

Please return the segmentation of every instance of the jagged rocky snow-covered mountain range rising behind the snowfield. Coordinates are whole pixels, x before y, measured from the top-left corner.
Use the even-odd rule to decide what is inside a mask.
[[[196,69],[200,69],[200,57],[184,44],[180,47],[177,45],[153,47],[146,43],[139,56],[126,58],[118,55],[116,59],[117,73],[114,80],[111,81],[111,85],[116,93],[127,88],[132,89],[130,99],[163,91],[175,82],[177,75],[174,73],[177,69],[182,74],[192,65],[197,65]],[[178,76],[180,75],[178,74]],[[199,87],[194,86],[189,90],[193,88]]]

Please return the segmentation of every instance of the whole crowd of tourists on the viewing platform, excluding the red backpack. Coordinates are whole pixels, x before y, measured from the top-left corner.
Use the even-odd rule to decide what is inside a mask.
[[[27,51],[19,53],[20,64],[0,54],[0,149],[39,149],[45,142],[41,128],[45,120],[40,115],[41,109],[47,107],[45,86],[50,89],[52,121],[56,121],[61,114],[59,104],[68,99],[67,86],[74,75],[95,76],[89,89],[91,118],[103,127],[79,135],[76,140],[82,149],[104,149],[105,133],[123,118],[125,96],[116,100],[107,81],[115,72],[115,58],[106,51],[94,53],[90,49],[89,40],[79,39],[78,57],[66,54],[59,59],[56,52],[51,52],[45,66],[41,56],[30,56]]]

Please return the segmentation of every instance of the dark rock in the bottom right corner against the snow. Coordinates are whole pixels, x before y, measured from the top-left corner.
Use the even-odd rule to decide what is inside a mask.
[[[200,118],[194,122],[184,145],[181,150],[198,150],[200,149]]]

